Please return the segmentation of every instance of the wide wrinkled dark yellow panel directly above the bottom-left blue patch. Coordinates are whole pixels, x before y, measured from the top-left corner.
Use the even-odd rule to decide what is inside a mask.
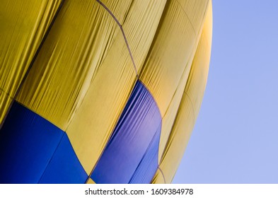
[[[97,1],[65,1],[18,102],[65,130],[117,35]]]

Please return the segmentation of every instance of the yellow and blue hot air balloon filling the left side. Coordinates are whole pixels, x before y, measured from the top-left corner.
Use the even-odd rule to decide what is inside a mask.
[[[169,183],[207,83],[210,0],[2,0],[0,183]]]

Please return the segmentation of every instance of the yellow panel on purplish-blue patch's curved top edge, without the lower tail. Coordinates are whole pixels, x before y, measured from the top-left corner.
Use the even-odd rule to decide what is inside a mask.
[[[199,8],[197,11],[202,10]],[[139,76],[154,96],[162,116],[178,87],[196,40],[197,35],[187,13],[178,1],[168,1]]]

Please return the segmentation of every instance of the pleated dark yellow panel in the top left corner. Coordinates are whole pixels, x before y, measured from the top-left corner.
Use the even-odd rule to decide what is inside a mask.
[[[0,124],[60,3],[1,0]]]

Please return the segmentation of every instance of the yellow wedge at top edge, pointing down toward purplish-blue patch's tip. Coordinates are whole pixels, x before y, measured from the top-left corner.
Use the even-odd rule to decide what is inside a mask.
[[[133,1],[122,25],[137,71],[144,64],[154,40],[166,0]]]

